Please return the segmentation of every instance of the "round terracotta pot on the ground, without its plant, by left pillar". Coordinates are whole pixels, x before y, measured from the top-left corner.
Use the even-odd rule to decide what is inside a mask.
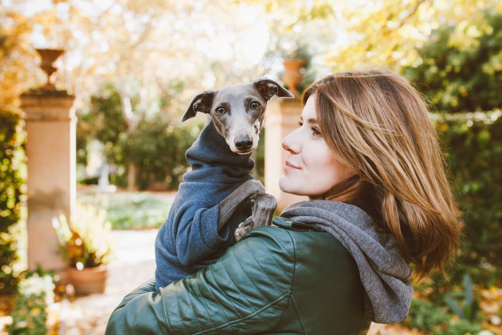
[[[68,279],[75,288],[75,294],[84,295],[91,293],[104,293],[108,268],[100,265],[94,268],[68,268]]]

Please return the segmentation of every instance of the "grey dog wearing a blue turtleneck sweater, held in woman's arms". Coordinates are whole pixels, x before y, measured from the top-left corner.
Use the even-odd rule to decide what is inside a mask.
[[[203,91],[191,101],[181,121],[200,112],[208,123],[186,152],[192,169],[155,241],[157,290],[214,263],[248,231],[270,224],[277,201],[249,171],[274,95],[294,97],[276,81],[258,78]]]

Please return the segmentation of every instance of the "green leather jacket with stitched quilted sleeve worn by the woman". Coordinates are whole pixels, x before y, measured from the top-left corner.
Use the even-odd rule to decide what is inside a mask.
[[[160,293],[153,279],[138,287],[106,334],[366,334],[371,322],[349,252],[314,226],[273,222]]]

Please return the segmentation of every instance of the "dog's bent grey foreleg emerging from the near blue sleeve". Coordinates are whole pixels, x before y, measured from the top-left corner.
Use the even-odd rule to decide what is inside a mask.
[[[265,194],[265,187],[256,179],[248,180],[220,201],[218,232],[223,228],[238,206],[246,199]]]

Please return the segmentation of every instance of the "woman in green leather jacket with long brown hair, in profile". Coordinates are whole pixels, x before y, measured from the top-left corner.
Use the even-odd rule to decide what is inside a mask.
[[[327,76],[302,96],[283,191],[308,195],[160,293],[150,281],[112,333],[364,334],[406,318],[413,288],[457,254],[459,216],[427,105],[401,75]],[[334,237],[334,238],[333,238]]]

